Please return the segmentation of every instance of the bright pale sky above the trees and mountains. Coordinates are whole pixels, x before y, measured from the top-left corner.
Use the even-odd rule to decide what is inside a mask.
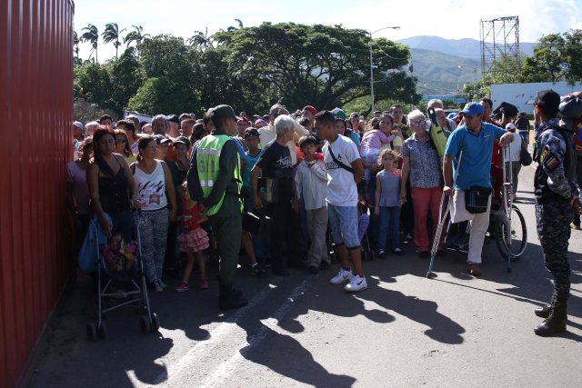
[[[432,5],[427,5],[432,4]],[[484,2],[443,0],[265,0],[196,1],[196,0],[77,0],[75,31],[91,23],[103,32],[105,24],[115,22],[120,29],[142,25],[150,35],[172,34],[185,38],[194,31],[212,34],[236,25],[263,22],[344,25],[375,31],[398,25],[375,34],[396,40],[415,35],[437,35],[447,39],[479,39],[479,20],[502,16],[519,16],[520,41],[537,42],[542,35],[582,28],[582,0],[518,0]],[[122,35],[125,35],[124,32]],[[88,55],[88,44],[80,45],[80,56]],[[113,45],[99,45],[99,60],[115,55]]]

